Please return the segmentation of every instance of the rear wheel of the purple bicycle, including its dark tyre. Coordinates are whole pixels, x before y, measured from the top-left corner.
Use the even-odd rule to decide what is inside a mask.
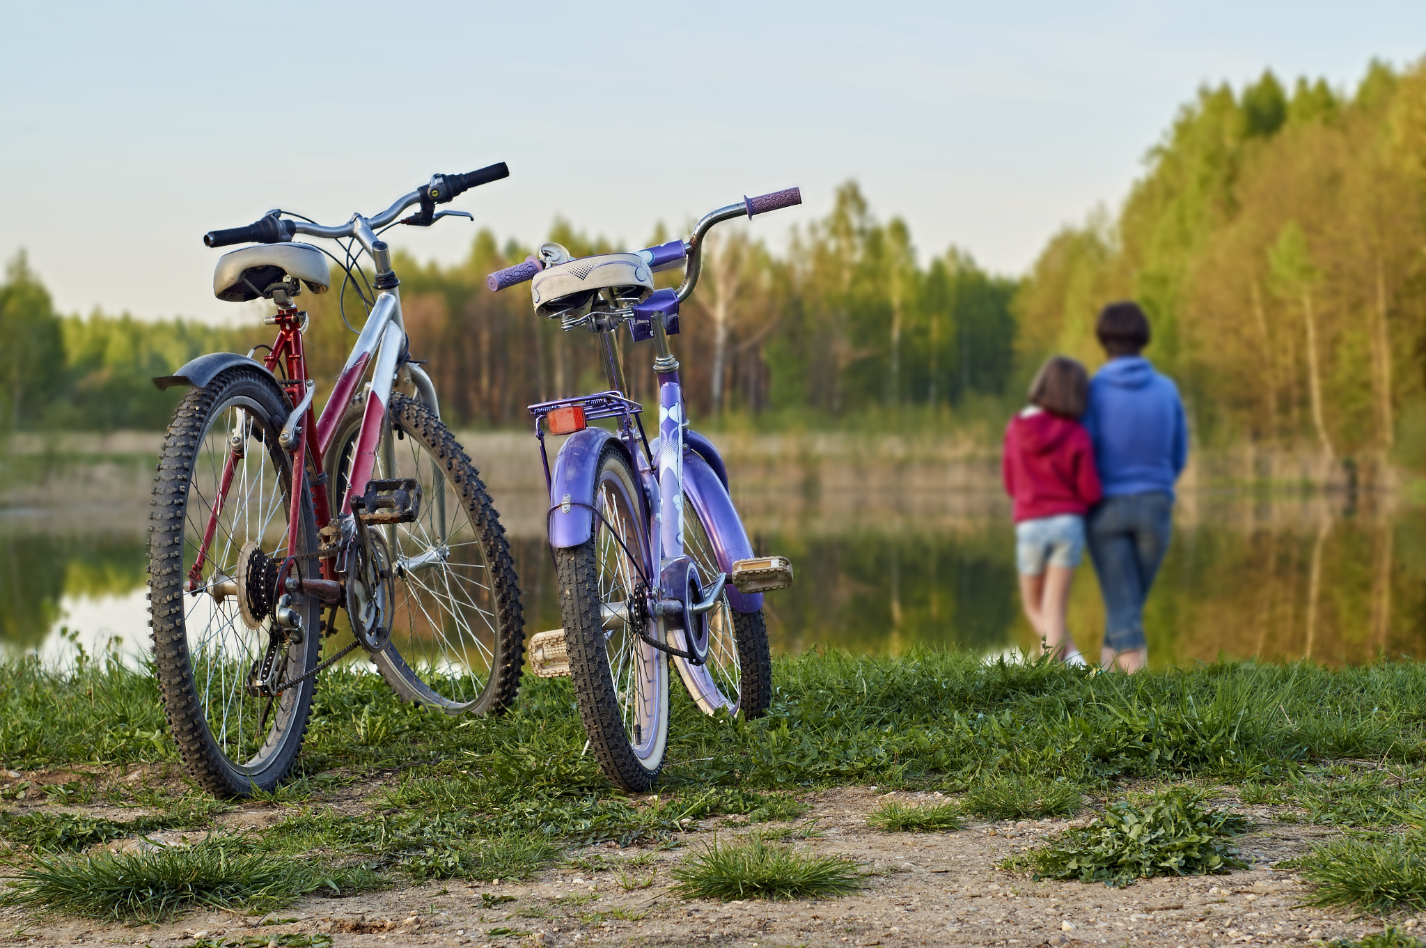
[[[657,780],[669,743],[669,663],[622,619],[643,594],[647,546],[637,482],[619,445],[605,445],[597,472],[593,536],[555,550],[559,607],[589,744],[609,780],[640,793]]]

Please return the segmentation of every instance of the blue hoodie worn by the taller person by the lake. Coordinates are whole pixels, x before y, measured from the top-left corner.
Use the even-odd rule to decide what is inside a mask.
[[[1079,422],[1094,442],[1104,496],[1166,490],[1188,460],[1188,425],[1178,386],[1144,356],[1109,359],[1089,381]]]

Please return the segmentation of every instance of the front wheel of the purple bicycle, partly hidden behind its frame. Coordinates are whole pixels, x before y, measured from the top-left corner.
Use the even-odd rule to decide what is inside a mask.
[[[697,565],[704,586],[720,572],[704,515],[683,495],[683,552]],[[674,659],[679,677],[704,714],[726,709],[747,718],[761,717],[773,700],[773,661],[767,653],[763,610],[739,612],[727,593],[707,613],[709,651],[702,666]]]

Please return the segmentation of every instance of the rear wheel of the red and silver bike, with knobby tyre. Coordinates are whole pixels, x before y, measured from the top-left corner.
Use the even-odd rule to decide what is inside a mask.
[[[289,411],[282,391],[262,372],[224,372],[207,388],[190,389],[178,405],[154,478],[148,609],[158,686],[184,766],[218,797],[271,791],[297,758],[312,707],[312,680],[265,697],[250,679],[281,684],[315,667],[319,603],[294,596],[301,642],[285,636],[284,643],[272,637],[270,614],[250,627],[237,593],[227,587],[250,543],[274,566],[317,552],[305,492],[298,546],[288,549],[292,469],[277,435]],[[197,582],[188,583],[230,459],[228,493],[218,505]],[[295,569],[308,579],[318,576],[311,557],[298,559]]]

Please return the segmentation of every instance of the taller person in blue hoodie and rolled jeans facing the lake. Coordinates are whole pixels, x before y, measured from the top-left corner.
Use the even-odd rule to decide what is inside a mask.
[[[1168,552],[1188,425],[1178,386],[1139,355],[1149,344],[1149,321],[1138,304],[1109,304],[1094,331],[1109,361],[1089,382],[1089,406],[1079,421],[1104,485],[1104,500],[1085,523],[1104,596],[1099,663],[1138,671],[1149,654],[1144,600]]]

